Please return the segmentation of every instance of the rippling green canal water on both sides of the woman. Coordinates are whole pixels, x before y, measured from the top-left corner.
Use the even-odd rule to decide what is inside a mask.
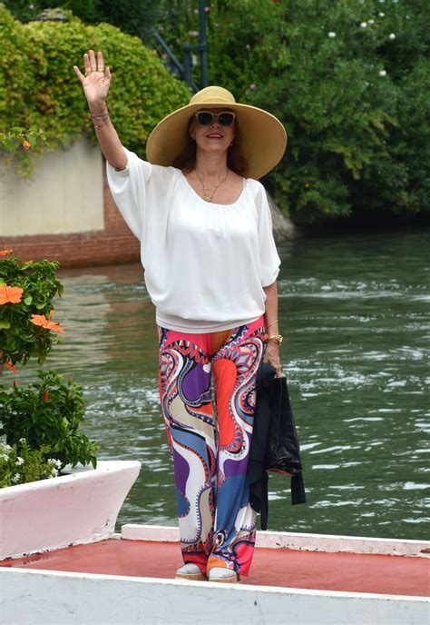
[[[279,247],[283,371],[308,502],[269,479],[269,530],[428,538],[430,232],[308,238]],[[139,264],[61,273],[66,332],[46,366],[83,384],[100,459],[142,471],[125,522],[175,524],[154,311]],[[3,382],[10,380],[6,373]],[[20,372],[24,382],[32,369]]]

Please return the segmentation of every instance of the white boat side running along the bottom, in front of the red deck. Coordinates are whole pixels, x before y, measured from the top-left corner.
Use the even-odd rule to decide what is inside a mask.
[[[3,625],[425,625],[429,602],[358,592],[0,569]]]

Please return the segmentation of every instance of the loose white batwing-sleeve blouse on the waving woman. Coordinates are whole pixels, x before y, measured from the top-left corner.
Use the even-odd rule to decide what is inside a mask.
[[[217,332],[264,314],[264,286],[275,282],[279,255],[262,184],[248,178],[238,200],[209,203],[181,170],[142,161],[107,164],[113,199],[141,241],[145,283],[158,325]]]

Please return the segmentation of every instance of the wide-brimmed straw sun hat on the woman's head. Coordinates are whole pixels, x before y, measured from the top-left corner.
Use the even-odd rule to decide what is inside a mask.
[[[217,86],[201,89],[191,97],[190,104],[155,126],[146,144],[148,161],[171,165],[187,144],[191,116],[210,106],[225,106],[236,114],[240,154],[248,162],[249,178],[261,178],[279,163],[287,147],[287,133],[279,119],[256,106],[237,103],[230,91]]]

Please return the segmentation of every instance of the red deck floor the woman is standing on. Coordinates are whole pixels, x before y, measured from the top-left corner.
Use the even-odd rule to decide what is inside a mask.
[[[429,596],[429,565],[426,558],[410,556],[259,548],[242,582]],[[109,539],[1,561],[0,566],[172,579],[181,554],[173,542]]]

